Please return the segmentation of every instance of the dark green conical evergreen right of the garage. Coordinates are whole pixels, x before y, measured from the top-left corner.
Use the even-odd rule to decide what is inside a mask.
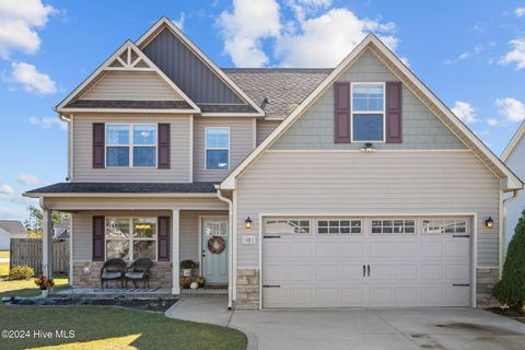
[[[492,293],[511,308],[521,310],[525,305],[525,209],[509,244],[501,281]]]

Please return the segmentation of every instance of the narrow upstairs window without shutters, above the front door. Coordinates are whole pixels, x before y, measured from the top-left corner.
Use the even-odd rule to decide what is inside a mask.
[[[206,128],[206,170],[230,168],[230,128]]]

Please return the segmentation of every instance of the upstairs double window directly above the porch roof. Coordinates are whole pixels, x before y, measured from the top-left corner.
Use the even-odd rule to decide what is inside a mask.
[[[106,166],[156,166],[156,125],[106,125]]]

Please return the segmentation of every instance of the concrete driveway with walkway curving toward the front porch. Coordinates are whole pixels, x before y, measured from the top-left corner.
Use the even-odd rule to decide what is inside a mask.
[[[525,324],[472,308],[228,312],[224,306],[221,299],[187,299],[166,315],[241,329],[250,349],[525,348]]]

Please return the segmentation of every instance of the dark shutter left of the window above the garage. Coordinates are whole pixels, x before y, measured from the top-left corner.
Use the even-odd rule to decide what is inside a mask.
[[[334,83],[334,142],[350,142],[350,83]]]

